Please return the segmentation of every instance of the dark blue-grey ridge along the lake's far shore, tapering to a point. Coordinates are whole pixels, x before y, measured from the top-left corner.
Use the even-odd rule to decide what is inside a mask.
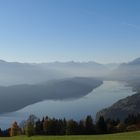
[[[35,85],[0,87],[0,113],[16,111],[42,100],[68,100],[80,98],[100,86],[93,78],[69,78]]]

